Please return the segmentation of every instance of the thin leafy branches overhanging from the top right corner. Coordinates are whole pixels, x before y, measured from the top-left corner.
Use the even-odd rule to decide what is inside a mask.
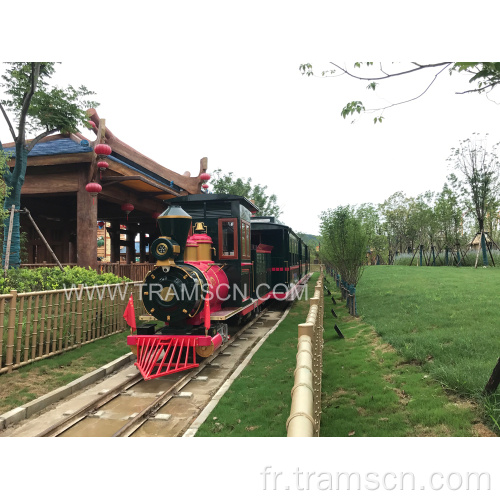
[[[351,78],[355,78],[357,80],[363,80],[369,82],[367,85],[368,90],[376,90],[379,82],[382,80],[387,80],[389,78],[396,78],[405,75],[409,75],[416,72],[425,72],[432,71],[433,76],[430,79],[427,87],[423,89],[423,91],[414,97],[406,99],[401,102],[389,104],[387,106],[383,106],[382,108],[377,109],[366,109],[362,101],[351,101],[345,105],[342,109],[341,115],[344,118],[348,116],[354,115],[355,113],[363,113],[363,112],[380,112],[378,116],[375,116],[373,119],[374,123],[381,123],[383,120],[382,113],[393,106],[398,106],[400,104],[405,104],[407,102],[414,101],[422,97],[433,85],[436,79],[443,73],[445,70],[448,70],[449,74],[453,73],[467,73],[471,75],[469,79],[469,83],[474,85],[474,88],[470,88],[464,90],[462,92],[457,92],[457,94],[469,94],[469,93],[489,93],[491,92],[499,83],[500,83],[500,63],[498,62],[439,62],[439,63],[428,63],[428,64],[419,64],[416,62],[407,63],[407,65],[403,66],[401,70],[397,70],[394,72],[388,72],[387,68],[384,68],[382,63],[379,64],[378,70],[374,66],[373,62],[354,63],[353,71],[348,71],[345,66],[341,66],[337,63],[330,63],[333,68],[329,70],[324,70],[321,72],[321,77],[338,77],[338,76],[349,76]],[[299,70],[303,75],[307,76],[315,76],[313,67],[309,63],[301,64],[299,66]],[[364,70],[367,72],[360,73]],[[374,73],[376,70],[376,73]],[[358,72],[358,73],[356,73]],[[371,74],[369,74],[371,73]]]

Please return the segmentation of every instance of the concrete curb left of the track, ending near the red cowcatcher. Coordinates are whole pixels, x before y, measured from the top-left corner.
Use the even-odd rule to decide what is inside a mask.
[[[51,404],[54,404],[57,401],[64,399],[71,394],[74,394],[84,387],[97,382],[98,380],[104,378],[106,375],[109,375],[110,373],[116,371],[118,368],[131,363],[134,358],[134,354],[129,352],[128,354],[125,354],[120,358],[111,361],[111,363],[101,366],[101,368],[98,368],[97,370],[94,370],[93,372],[87,373],[86,375],[73,380],[73,382],[70,382],[63,387],[59,387],[58,389],[55,389],[48,394],[44,394],[43,396],[40,396],[39,398],[30,401],[23,406],[14,408],[13,410],[10,410],[3,415],[0,415],[0,430],[6,429],[10,425],[17,424],[21,422],[21,420],[29,418],[35,413],[44,410],[45,408],[47,408],[47,406],[50,406]]]

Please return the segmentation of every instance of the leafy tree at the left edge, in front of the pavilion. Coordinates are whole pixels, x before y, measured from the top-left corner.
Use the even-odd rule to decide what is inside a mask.
[[[49,80],[55,72],[52,62],[14,62],[2,75],[0,87],[6,96],[0,100],[0,111],[7,122],[15,144],[15,166],[4,172],[4,182],[7,195],[4,209],[10,210],[12,205],[16,210],[21,205],[21,188],[24,184],[28,153],[44,137],[60,131],[62,133],[76,132],[78,127],[88,127],[88,117],[85,110],[96,107],[97,103],[85,98],[94,94],[86,87],[75,89],[69,85],[65,89],[50,87]],[[9,118],[9,113],[15,118],[17,133]],[[37,134],[34,139],[26,138],[27,133]],[[0,151],[3,151],[0,142]],[[5,224],[9,224],[10,215]],[[4,231],[2,264],[5,260],[7,247],[7,232]],[[19,212],[14,213],[12,241],[9,264],[11,267],[20,265],[20,225]]]

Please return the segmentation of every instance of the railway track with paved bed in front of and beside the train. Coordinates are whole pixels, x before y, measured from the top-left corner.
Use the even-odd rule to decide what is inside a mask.
[[[117,377],[113,386],[87,398],[85,404],[55,412],[49,425],[21,426],[14,435],[30,436],[180,436],[211,401],[224,381],[257,342],[280,320],[285,303],[271,305],[243,328],[200,366],[167,377],[144,381],[135,367]],[[203,375],[201,375],[203,373]],[[56,417],[57,415],[57,417]],[[47,420],[47,419],[46,419]]]

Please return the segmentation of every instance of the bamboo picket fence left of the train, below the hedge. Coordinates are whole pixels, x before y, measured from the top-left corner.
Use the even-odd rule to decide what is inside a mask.
[[[0,374],[128,328],[133,294],[143,314],[142,282],[0,295]]]

